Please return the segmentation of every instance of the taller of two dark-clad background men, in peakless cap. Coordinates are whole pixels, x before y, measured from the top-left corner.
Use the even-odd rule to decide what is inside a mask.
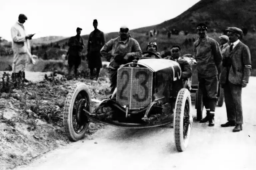
[[[100,74],[100,68],[102,68],[100,50],[105,45],[105,36],[98,28],[98,21],[93,20],[94,31],[90,33],[88,46],[87,46],[87,59],[90,69],[90,79],[93,79],[93,71],[96,68],[96,80]]]

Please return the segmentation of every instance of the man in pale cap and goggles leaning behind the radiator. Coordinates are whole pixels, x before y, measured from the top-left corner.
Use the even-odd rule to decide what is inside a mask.
[[[111,51],[111,53],[109,53]],[[100,50],[100,53],[109,64],[109,79],[111,81],[111,93],[114,92],[117,84],[117,69],[120,65],[129,63],[133,57],[142,57],[142,51],[137,40],[131,38],[130,31],[122,26],[117,38],[108,41]]]

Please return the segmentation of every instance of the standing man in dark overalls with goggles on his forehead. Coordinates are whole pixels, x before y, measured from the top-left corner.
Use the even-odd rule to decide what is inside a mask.
[[[209,121],[209,126],[214,126],[222,54],[218,42],[207,36],[206,24],[198,24],[197,33],[199,39],[194,43],[194,56],[197,62],[198,88],[202,91],[206,108],[206,117],[200,123]]]

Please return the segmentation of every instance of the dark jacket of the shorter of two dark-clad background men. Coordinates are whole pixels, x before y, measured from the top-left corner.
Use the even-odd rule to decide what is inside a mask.
[[[81,36],[79,36],[79,39],[77,36],[70,37],[68,46],[68,54],[70,56],[81,56],[81,52],[84,49],[84,41]]]

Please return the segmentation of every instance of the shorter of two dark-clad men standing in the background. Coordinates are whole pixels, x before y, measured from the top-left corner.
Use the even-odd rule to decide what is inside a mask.
[[[82,28],[77,27],[76,36],[70,37],[68,41],[68,70],[69,74],[71,73],[71,69],[74,66],[75,68],[75,76],[77,75],[77,69],[81,64],[81,52],[84,49],[84,41],[80,36]]]

